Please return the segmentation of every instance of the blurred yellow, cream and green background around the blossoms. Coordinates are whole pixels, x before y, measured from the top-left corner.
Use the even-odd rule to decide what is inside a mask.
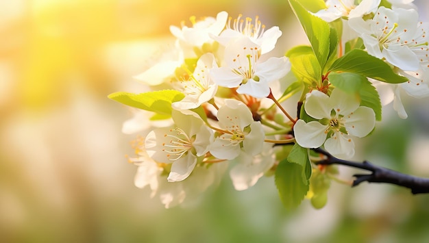
[[[144,90],[132,76],[169,25],[222,10],[280,26],[277,55],[306,42],[280,0],[0,0],[0,242],[429,241],[429,195],[390,185],[333,183],[325,208],[293,212],[273,177],[237,192],[225,175],[173,209],[134,186],[136,136],[121,133],[132,113],[107,95]],[[407,120],[385,107],[354,159],[429,177],[428,102],[404,99]]]

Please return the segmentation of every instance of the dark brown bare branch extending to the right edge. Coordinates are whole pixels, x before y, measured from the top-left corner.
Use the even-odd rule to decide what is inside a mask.
[[[356,174],[353,175],[356,179],[353,181],[352,186],[358,186],[363,181],[368,181],[369,183],[391,183],[397,186],[402,186],[404,188],[410,188],[411,193],[420,194],[420,193],[429,193],[429,179],[414,177],[412,175],[406,175],[395,170],[390,170],[388,168],[383,168],[375,166],[367,161],[363,163],[351,162],[344,159],[339,159],[331,155],[330,153],[324,151],[323,149],[317,148],[312,149],[317,153],[321,153],[326,156],[326,159],[317,162],[317,164],[341,164],[343,166],[349,166],[353,168],[360,168],[362,170],[368,170],[371,174]]]

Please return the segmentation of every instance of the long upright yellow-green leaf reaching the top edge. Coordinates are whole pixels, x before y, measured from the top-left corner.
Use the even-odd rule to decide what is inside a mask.
[[[331,36],[331,31],[334,31],[326,21],[323,21],[321,18],[310,14],[298,1],[289,0],[289,4],[295,15],[297,16],[299,22],[301,23],[313,52],[315,53],[319,65],[323,70],[329,56],[332,54],[332,49],[335,47],[330,47],[331,42],[338,42],[338,37],[335,40],[330,40],[334,36]]]

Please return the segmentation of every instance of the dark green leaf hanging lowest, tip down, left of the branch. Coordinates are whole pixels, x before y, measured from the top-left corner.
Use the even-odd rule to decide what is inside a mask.
[[[275,170],[275,186],[286,209],[293,209],[301,204],[309,185],[302,181],[302,166],[282,160]]]

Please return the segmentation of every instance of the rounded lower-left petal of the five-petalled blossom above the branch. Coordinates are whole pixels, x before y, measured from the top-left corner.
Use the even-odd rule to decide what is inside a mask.
[[[297,123],[293,126],[295,140],[304,148],[318,148],[321,146],[326,140],[327,129],[328,126],[322,125],[317,121],[306,123],[304,120],[297,120]]]

